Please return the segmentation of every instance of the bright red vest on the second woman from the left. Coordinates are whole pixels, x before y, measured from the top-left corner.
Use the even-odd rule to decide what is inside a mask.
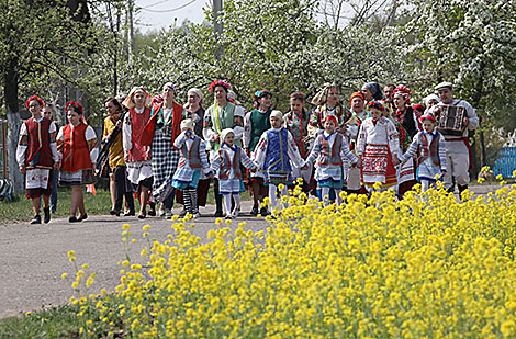
[[[71,128],[68,124],[63,127],[63,160],[60,170],[65,172],[77,172],[83,169],[91,169],[90,149],[86,140],[86,128],[88,125],[80,123]]]

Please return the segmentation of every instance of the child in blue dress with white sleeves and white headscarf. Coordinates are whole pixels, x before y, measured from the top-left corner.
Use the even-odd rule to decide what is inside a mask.
[[[306,161],[303,160],[292,134],[283,125],[283,114],[280,111],[270,113],[271,128],[266,131],[256,148],[255,162],[266,174],[265,184],[269,187],[269,199],[272,210],[277,206],[277,193],[280,184],[283,185],[281,195],[289,195],[287,187],[292,184],[291,162],[306,170]]]

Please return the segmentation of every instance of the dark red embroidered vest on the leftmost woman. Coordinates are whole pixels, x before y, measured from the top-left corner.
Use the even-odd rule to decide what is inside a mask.
[[[29,135],[25,150],[26,168],[52,168],[54,165],[49,133],[52,121],[44,117],[37,122],[34,117],[31,117],[24,124]]]

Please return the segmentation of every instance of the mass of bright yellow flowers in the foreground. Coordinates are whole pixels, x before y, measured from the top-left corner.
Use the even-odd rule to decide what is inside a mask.
[[[267,231],[240,223],[203,244],[177,221],[143,248],[145,269],[123,263],[114,294],[75,303],[90,335],[514,337],[515,196],[384,192],[323,207],[295,191]]]

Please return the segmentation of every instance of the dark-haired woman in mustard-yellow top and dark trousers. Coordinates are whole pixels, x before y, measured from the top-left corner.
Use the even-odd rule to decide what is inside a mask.
[[[104,120],[104,133],[102,142],[109,140],[112,136],[113,129],[119,127],[122,129],[122,112],[123,108],[120,102],[110,97],[104,101],[105,110],[108,111],[108,117]],[[114,196],[114,205],[110,211],[111,215],[120,216],[122,210],[122,200],[125,196],[125,202],[128,207],[125,216],[135,215],[133,195],[125,185],[125,160],[124,160],[124,148],[122,144],[122,133],[119,133],[110,147],[109,150],[109,166],[110,166],[110,189],[111,196]],[[114,193],[114,194],[113,194]]]

